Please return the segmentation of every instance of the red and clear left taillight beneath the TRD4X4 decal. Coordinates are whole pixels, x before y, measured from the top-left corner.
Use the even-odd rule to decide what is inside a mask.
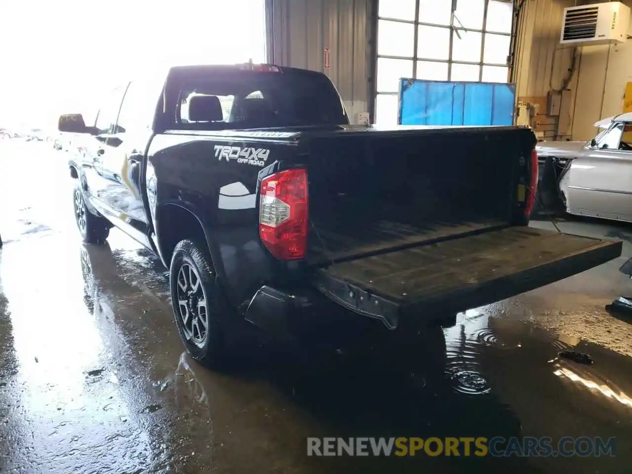
[[[261,182],[259,235],[281,260],[305,257],[307,250],[307,171],[286,169]]]

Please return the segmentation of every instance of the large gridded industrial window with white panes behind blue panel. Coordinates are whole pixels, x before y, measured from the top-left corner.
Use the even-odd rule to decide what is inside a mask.
[[[399,79],[507,82],[511,0],[379,0],[375,123],[397,123]]]

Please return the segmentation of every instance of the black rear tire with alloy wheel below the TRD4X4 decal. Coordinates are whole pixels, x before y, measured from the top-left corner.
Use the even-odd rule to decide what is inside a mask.
[[[225,367],[228,350],[223,321],[228,304],[206,246],[180,241],[171,257],[169,282],[171,307],[186,351],[206,367]]]

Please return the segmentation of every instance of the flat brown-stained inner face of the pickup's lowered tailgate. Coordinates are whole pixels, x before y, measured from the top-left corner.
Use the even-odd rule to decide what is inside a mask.
[[[425,300],[607,245],[611,243],[515,227],[349,260],[320,271],[393,300]]]

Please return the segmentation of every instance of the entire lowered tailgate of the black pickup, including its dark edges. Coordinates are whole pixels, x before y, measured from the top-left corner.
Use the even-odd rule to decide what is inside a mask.
[[[583,272],[619,257],[622,245],[505,228],[332,264],[317,270],[315,284],[394,329],[403,315],[459,312]]]

